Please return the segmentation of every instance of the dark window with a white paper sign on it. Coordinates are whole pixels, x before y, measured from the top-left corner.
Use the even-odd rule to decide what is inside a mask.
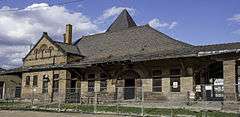
[[[180,76],[181,76],[180,69],[171,69],[170,70],[171,92],[180,92],[181,91]]]

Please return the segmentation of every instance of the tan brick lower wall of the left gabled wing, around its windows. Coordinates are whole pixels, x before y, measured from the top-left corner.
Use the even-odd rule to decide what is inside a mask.
[[[54,70],[53,71],[41,71],[41,72],[27,72],[22,74],[22,98],[31,99],[33,94],[35,99],[44,99],[51,97],[52,94],[52,82],[53,82],[53,74],[59,74],[59,95],[61,98],[65,98],[66,89],[69,87],[68,81],[71,78],[70,73],[67,70]],[[33,76],[38,76],[38,85],[33,86]],[[43,86],[43,76],[47,75],[49,78],[48,82],[48,93],[42,93]],[[26,85],[26,77],[30,76],[30,85]],[[59,97],[56,97],[59,98]]]

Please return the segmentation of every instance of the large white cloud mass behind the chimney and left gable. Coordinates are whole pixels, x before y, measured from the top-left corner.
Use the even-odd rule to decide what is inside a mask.
[[[73,37],[98,32],[98,26],[81,12],[64,6],[46,3],[32,4],[21,10],[4,6],[0,8],[0,67],[20,66],[29,46],[36,43],[42,32],[62,41],[66,24],[73,24]]]

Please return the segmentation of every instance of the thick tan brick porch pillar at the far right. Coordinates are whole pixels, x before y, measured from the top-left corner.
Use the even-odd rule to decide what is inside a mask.
[[[223,61],[224,100],[236,101],[236,61]]]

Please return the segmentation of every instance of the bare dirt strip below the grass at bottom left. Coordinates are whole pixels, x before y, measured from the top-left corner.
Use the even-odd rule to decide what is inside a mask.
[[[116,115],[93,115],[80,113],[51,113],[51,112],[34,112],[34,111],[0,111],[0,117],[123,117]]]

